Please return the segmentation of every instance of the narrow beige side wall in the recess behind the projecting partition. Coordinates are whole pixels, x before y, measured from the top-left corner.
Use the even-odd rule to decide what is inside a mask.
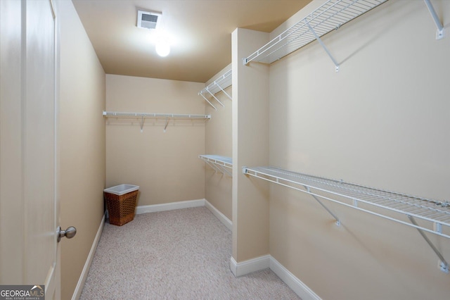
[[[230,68],[231,65],[228,65],[224,70],[221,70],[214,75],[211,80],[206,82],[205,86],[219,78]],[[231,87],[227,87],[225,92],[230,96],[233,96]],[[229,99],[224,92],[219,92],[214,96],[216,96],[224,106],[221,106],[214,98],[208,97],[209,99],[211,98],[211,103],[217,108],[217,111],[215,111],[207,101],[204,101],[206,113],[211,115],[211,120],[208,121],[205,127],[205,154],[231,157],[233,144],[231,136],[231,108],[233,105],[231,99]],[[205,163],[205,199],[221,213],[226,215],[226,218],[229,218],[229,220],[232,219],[232,183],[232,177],[219,172],[214,173],[214,169]]]

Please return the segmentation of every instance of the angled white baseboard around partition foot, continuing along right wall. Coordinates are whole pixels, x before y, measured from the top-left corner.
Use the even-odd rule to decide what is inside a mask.
[[[273,258],[271,255],[259,256],[257,258],[249,259],[248,261],[242,261],[236,263],[236,260],[231,256],[230,260],[231,272],[236,276],[247,275],[259,270],[270,268],[283,282],[292,289],[295,294],[300,296],[303,300],[321,300],[316,293],[314,293],[307,285],[305,285],[300,279],[295,277],[293,273],[290,273],[281,263]]]

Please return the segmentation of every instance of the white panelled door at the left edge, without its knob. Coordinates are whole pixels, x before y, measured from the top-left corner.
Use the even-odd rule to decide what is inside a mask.
[[[60,298],[56,10],[0,0],[0,285]]]

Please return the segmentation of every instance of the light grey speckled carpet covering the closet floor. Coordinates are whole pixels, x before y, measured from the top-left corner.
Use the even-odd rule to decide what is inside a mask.
[[[205,206],[107,222],[80,299],[299,299],[270,269],[234,277],[230,258]]]

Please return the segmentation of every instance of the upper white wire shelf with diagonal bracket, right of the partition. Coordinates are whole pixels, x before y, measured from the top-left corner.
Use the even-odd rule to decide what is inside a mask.
[[[246,65],[250,61],[259,63],[273,63],[278,59],[302,48],[306,44],[337,30],[345,23],[383,4],[387,0],[329,0],[315,11],[307,15],[298,23],[285,30],[281,35],[272,39],[253,54],[243,59]],[[322,44],[322,43],[321,43]],[[326,49],[326,47],[322,44]],[[328,50],[326,49],[327,53]],[[330,54],[328,53],[330,56]],[[333,62],[338,68],[338,63]]]

